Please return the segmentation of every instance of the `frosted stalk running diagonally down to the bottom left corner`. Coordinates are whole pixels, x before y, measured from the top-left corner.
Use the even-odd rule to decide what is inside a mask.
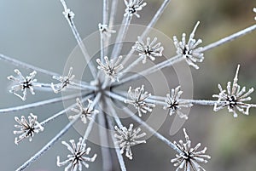
[[[70,123],[67,123],[67,126],[62,128],[61,131],[58,134],[56,134],[52,140],[50,140],[46,145],[44,145],[44,147],[40,151],[38,151],[34,156],[32,156],[30,159],[24,162],[19,168],[17,168],[16,171],[25,170],[32,164],[32,162],[35,162],[36,160],[38,160],[39,157],[42,157],[43,154],[55,144],[55,142],[61,139],[62,135],[67,133],[68,129],[73,126],[73,123],[75,123],[79,119],[79,117],[80,116],[74,118]]]

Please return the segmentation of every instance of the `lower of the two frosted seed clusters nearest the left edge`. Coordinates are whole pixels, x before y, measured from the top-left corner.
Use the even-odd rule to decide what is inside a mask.
[[[44,130],[44,127],[38,123],[38,117],[33,115],[32,113],[28,116],[28,121],[24,116],[15,117],[15,121],[19,123],[19,125],[15,125],[15,128],[20,128],[20,130],[14,131],[14,134],[20,134],[19,137],[15,138],[15,144],[18,145],[21,140],[28,138],[29,141],[32,141],[32,137],[34,134],[38,134],[40,131]]]

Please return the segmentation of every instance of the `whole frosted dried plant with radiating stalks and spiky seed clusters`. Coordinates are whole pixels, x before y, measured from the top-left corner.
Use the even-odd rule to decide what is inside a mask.
[[[14,64],[18,67],[24,67],[28,69],[32,69],[32,73],[29,76],[23,77],[18,69],[15,69],[15,73],[18,77],[10,76],[9,80],[15,82],[16,84],[11,87],[9,90],[10,93],[17,95],[21,100],[26,100],[26,92],[30,90],[31,94],[34,94],[34,87],[38,87],[39,90],[44,90],[52,88],[55,94],[60,92],[72,92],[73,90],[80,90],[81,95],[79,97],[78,94],[71,95],[63,95],[61,98],[53,98],[50,100],[42,100],[40,102],[15,106],[12,108],[0,109],[0,113],[12,112],[12,111],[22,111],[25,109],[32,109],[34,107],[54,104],[55,102],[65,101],[65,100],[73,100],[73,105],[65,107],[64,110],[55,113],[52,117],[45,119],[43,122],[38,123],[38,117],[31,114],[28,117],[28,121],[25,117],[15,117],[15,121],[19,123],[19,125],[15,125],[15,128],[20,128],[20,130],[15,131],[15,134],[20,134],[18,138],[15,139],[15,143],[20,143],[21,140],[25,138],[29,138],[32,141],[32,137],[34,134],[38,134],[40,131],[44,133],[49,131],[47,130],[47,124],[49,122],[53,122],[57,120],[58,117],[63,116],[66,112],[74,111],[76,114],[70,116],[70,123],[68,123],[61,131],[55,135],[52,140],[49,140],[49,143],[44,145],[40,151],[38,151],[34,156],[28,159],[26,162],[21,164],[16,171],[24,170],[28,168],[32,162],[35,162],[39,157],[41,157],[44,152],[48,151],[52,145],[55,144],[63,134],[66,134],[69,128],[73,126],[74,123],[79,122],[79,118],[81,118],[83,125],[86,125],[86,130],[84,132],[84,136],[79,139],[78,143],[75,143],[75,140],[69,140],[71,145],[67,144],[66,141],[62,141],[63,145],[67,146],[67,150],[71,152],[70,155],[67,156],[67,160],[64,162],[60,162],[60,157],[57,157],[57,166],[61,167],[63,165],[67,165],[64,168],[67,170],[79,170],[83,169],[83,165],[85,168],[89,168],[89,164],[87,162],[94,162],[96,160],[96,154],[92,157],[88,157],[90,153],[90,148],[86,148],[85,142],[88,140],[88,136],[90,131],[93,128],[93,125],[96,124],[96,121],[106,129],[109,129],[109,132],[104,132],[105,129],[100,128],[99,134],[101,138],[101,142],[109,143],[112,142],[115,148],[116,156],[119,161],[119,168],[122,171],[127,170],[124,162],[124,158],[122,154],[125,151],[125,156],[129,159],[134,159],[131,153],[131,146],[144,144],[146,143],[145,139],[145,131],[147,130],[149,133],[153,134],[157,139],[163,141],[172,148],[174,152],[177,153],[176,157],[172,159],[171,162],[175,162],[175,166],[177,170],[183,169],[184,171],[200,171],[205,170],[199,165],[198,162],[208,162],[210,156],[206,155],[205,152],[207,148],[202,151],[197,151],[201,144],[197,144],[195,148],[191,147],[191,141],[189,140],[188,134],[186,134],[185,129],[183,132],[185,134],[185,142],[182,140],[179,143],[172,143],[171,140],[168,140],[162,134],[158,133],[157,130],[151,128],[148,123],[143,121],[143,114],[146,116],[150,116],[151,111],[154,111],[154,107],[160,106],[161,109],[169,110],[170,116],[177,115],[182,119],[188,119],[189,117],[183,113],[183,108],[190,108],[194,105],[213,105],[213,111],[218,111],[225,107],[228,108],[229,112],[234,114],[234,117],[237,117],[236,111],[241,111],[241,113],[248,115],[249,109],[251,107],[255,107],[256,105],[247,104],[248,100],[251,100],[248,95],[253,93],[253,88],[250,88],[246,93],[246,88],[240,88],[240,85],[237,83],[238,81],[238,71],[239,66],[236,71],[236,76],[234,78],[233,84],[229,82],[227,85],[227,90],[224,90],[220,85],[218,86],[220,93],[214,94],[213,97],[218,98],[218,100],[193,100],[193,99],[181,99],[181,94],[183,91],[180,90],[181,86],[177,86],[177,88],[171,89],[171,94],[166,92],[165,96],[160,96],[158,94],[152,95],[147,91],[144,91],[144,85],[141,84],[141,87],[132,89],[131,84],[133,81],[140,79],[143,76],[147,76],[156,71],[160,71],[161,69],[172,66],[181,60],[185,60],[189,66],[193,66],[195,69],[199,69],[197,66],[197,62],[202,62],[204,60],[204,52],[216,48],[219,45],[224,43],[228,43],[232,40],[235,40],[237,37],[241,37],[251,31],[256,30],[256,25],[249,26],[246,29],[236,32],[228,37],[224,37],[223,39],[218,40],[217,42],[210,43],[207,46],[198,48],[198,45],[202,43],[201,39],[195,38],[195,30],[199,26],[200,22],[197,22],[193,31],[189,35],[189,40],[186,41],[186,34],[183,33],[182,40],[178,41],[177,37],[173,37],[173,45],[176,49],[176,56],[170,57],[167,60],[160,61],[152,67],[145,68],[143,71],[139,73],[133,73],[128,75],[127,71],[132,71],[134,66],[137,66],[141,60],[143,63],[146,63],[146,59],[155,60],[156,57],[163,56],[164,48],[161,46],[161,43],[156,43],[157,38],[154,37],[153,41],[150,42],[150,38],[148,36],[149,29],[154,26],[156,21],[160,18],[160,15],[166,9],[167,5],[170,3],[170,0],[164,0],[160,9],[158,9],[157,13],[154,14],[153,19],[149,22],[148,26],[145,28],[145,31],[142,35],[137,35],[138,39],[134,42],[134,45],[131,46],[130,53],[125,56],[125,54],[121,54],[122,41],[127,36],[127,30],[131,24],[132,16],[137,16],[140,18],[139,14],[142,10],[147,10],[147,3],[143,2],[143,0],[124,0],[124,20],[123,25],[120,26],[118,35],[116,37],[116,42],[113,44],[113,52],[111,55],[108,55],[108,41],[112,37],[112,34],[115,33],[113,31],[113,19],[116,14],[116,4],[119,0],[112,1],[111,11],[108,10],[109,2],[108,0],[103,0],[103,22],[99,24],[99,34],[101,37],[101,55],[100,58],[96,60],[96,62],[90,62],[90,54],[87,52],[86,46],[84,45],[82,38],[79,36],[79,31],[75,26],[73,21],[75,14],[71,9],[67,8],[67,4],[64,0],[60,0],[63,6],[63,15],[67,20],[68,25],[73,32],[73,36],[75,37],[79,48],[84,55],[84,59],[86,60],[90,72],[91,72],[91,80],[83,80],[78,82],[74,79],[73,67],[70,67],[67,76],[61,76],[60,74],[56,74],[54,72],[43,70],[38,68],[37,66],[31,66],[26,63],[23,63],[19,60],[14,60],[8,56],[0,54],[0,60],[8,61],[11,64]],[[253,9],[256,12],[256,9]],[[61,12],[60,12],[61,13]],[[109,14],[109,20],[108,20]],[[255,19],[256,20],[256,19]],[[109,21],[109,22],[108,22]],[[146,38],[146,43],[143,43],[143,39]],[[168,46],[168,45],[166,45]],[[125,63],[130,60],[131,54],[135,51],[139,53],[137,60],[132,59],[131,64],[125,66]],[[110,56],[110,57],[107,57]],[[125,56],[125,60],[123,60],[122,56]],[[127,60],[128,59],[128,60]],[[92,59],[94,60],[94,59]],[[96,66],[95,64],[98,64]],[[85,66],[85,64],[84,64]],[[143,65],[145,66],[145,65]],[[96,70],[98,68],[99,70]],[[74,68],[75,70],[76,68]],[[124,70],[123,70],[124,69]],[[79,69],[78,69],[79,70]],[[41,72],[47,76],[54,78],[60,83],[36,83],[37,80],[34,79],[37,72]],[[82,71],[81,71],[82,72]],[[128,84],[130,88],[128,91],[120,91],[118,87],[120,85]],[[132,85],[133,86],[133,85]],[[21,91],[23,95],[17,94],[16,92]],[[49,91],[52,93],[52,91]],[[74,91],[75,92],[75,91]],[[128,99],[127,99],[128,98]],[[76,100],[76,101],[75,101]],[[88,101],[87,107],[84,107],[84,101]],[[122,118],[119,117],[118,111],[115,110],[112,104],[112,100],[119,101],[119,103],[123,104],[122,111],[135,122],[140,124],[142,128],[133,128],[134,124],[131,123],[129,128],[123,126]],[[137,112],[133,112],[129,107],[126,107],[125,104],[133,105]],[[75,106],[77,105],[77,108]],[[107,110],[107,111],[105,111]],[[50,110],[47,110],[50,111]],[[163,111],[165,112],[165,111]],[[139,117],[137,117],[136,113]],[[40,115],[40,114],[38,114]],[[151,114],[153,115],[153,114]],[[89,122],[88,120],[89,119]],[[143,133],[140,133],[143,130]],[[111,137],[111,139],[108,137]],[[39,136],[39,135],[38,135]],[[143,140],[142,140],[143,138]],[[155,147],[157,148],[157,147]],[[113,170],[113,166],[109,166],[113,163],[110,148],[106,148],[102,146],[102,162],[103,162],[103,171]],[[172,154],[174,156],[174,154]],[[22,156],[20,156],[22,157]],[[170,159],[173,157],[170,157]],[[165,158],[163,158],[165,160]],[[169,159],[168,159],[169,160]],[[107,164],[106,164],[107,163]],[[93,163],[90,163],[93,167]],[[104,167],[104,165],[108,165],[108,167]],[[170,164],[171,165],[171,164]],[[61,168],[62,169],[62,168]]]

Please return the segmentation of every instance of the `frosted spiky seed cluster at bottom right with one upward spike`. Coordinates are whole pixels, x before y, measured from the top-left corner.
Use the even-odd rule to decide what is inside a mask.
[[[186,141],[179,140],[179,144],[174,141],[174,145],[182,151],[182,153],[177,154],[176,158],[172,159],[171,162],[175,162],[174,166],[177,167],[176,171],[179,169],[183,169],[184,171],[205,171],[198,162],[205,162],[207,163],[207,159],[211,157],[206,155],[207,147],[205,147],[202,151],[197,151],[198,148],[201,146],[201,143],[198,143],[195,148],[191,147],[191,140],[189,140],[189,135],[186,133],[185,128],[183,128],[183,132],[185,134]]]

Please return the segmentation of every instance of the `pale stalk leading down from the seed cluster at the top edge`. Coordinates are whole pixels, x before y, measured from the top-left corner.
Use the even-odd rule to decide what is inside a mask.
[[[118,58],[120,51],[123,47],[123,41],[125,39],[126,33],[128,31],[129,25],[131,23],[131,16],[127,15],[122,21],[122,25],[119,30],[119,34],[116,38],[115,44],[113,46],[113,51],[111,54],[111,58]]]

